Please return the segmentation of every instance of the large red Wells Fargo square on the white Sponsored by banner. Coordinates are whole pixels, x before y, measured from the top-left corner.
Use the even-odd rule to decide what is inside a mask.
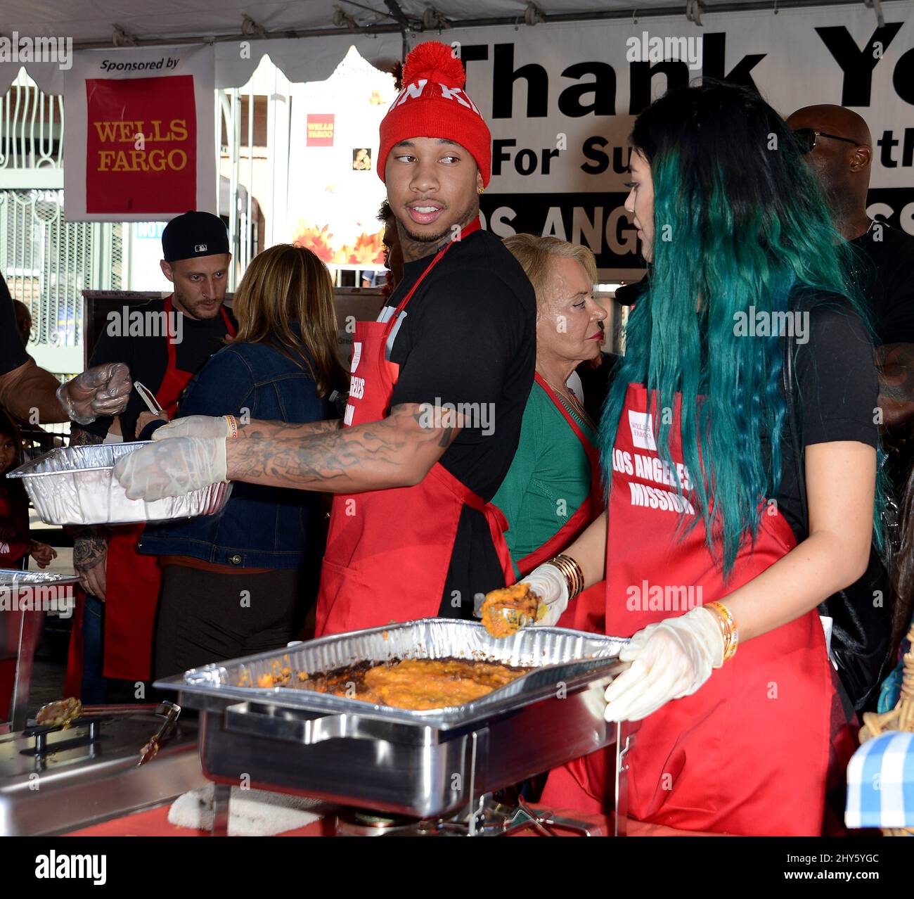
[[[197,208],[192,75],[87,79],[86,211]]]

